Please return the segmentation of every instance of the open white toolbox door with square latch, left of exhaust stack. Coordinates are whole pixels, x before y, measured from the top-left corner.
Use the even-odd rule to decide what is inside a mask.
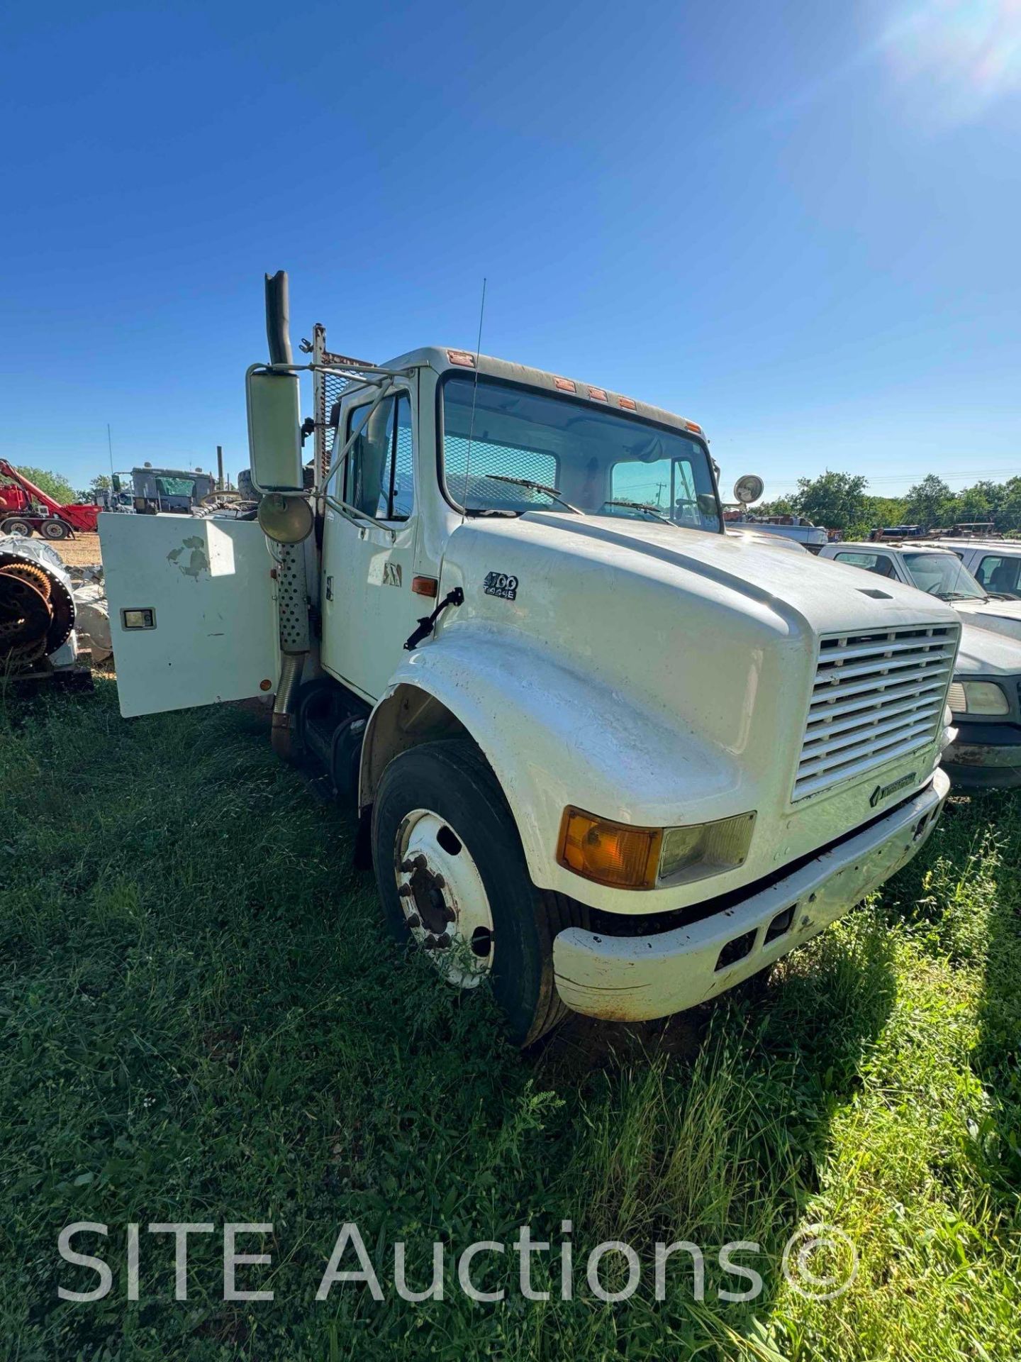
[[[255,520],[106,513],[99,542],[125,718],[276,689],[274,561]]]

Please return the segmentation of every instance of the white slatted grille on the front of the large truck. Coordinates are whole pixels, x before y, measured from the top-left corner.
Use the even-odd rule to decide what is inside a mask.
[[[794,798],[818,794],[931,742],[943,722],[954,625],[820,642]]]

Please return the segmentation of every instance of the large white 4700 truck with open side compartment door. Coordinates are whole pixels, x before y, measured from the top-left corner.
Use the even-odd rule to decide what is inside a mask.
[[[466,350],[362,364],[319,326],[299,365],[286,275],[267,304],[259,522],[101,518],[124,715],[272,693],[275,746],[357,802],[393,933],[489,979],[519,1043],[712,998],[911,859],[953,610],[726,535],[692,421]]]

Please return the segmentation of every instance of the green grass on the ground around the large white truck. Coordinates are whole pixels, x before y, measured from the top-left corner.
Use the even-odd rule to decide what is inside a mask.
[[[0,1350],[35,1358],[1021,1357],[1021,801],[956,801],[882,896],[798,952],[769,987],[640,1034],[574,1026],[542,1054],[500,1036],[385,940],[350,868],[350,820],[271,755],[256,716],[123,722],[95,696],[0,706]],[[574,1298],[527,1302],[516,1257],[479,1258],[501,1305],[393,1290],[392,1244],[425,1286],[430,1244],[564,1235]],[[72,1220],[110,1227],[114,1268],[63,1263]],[[271,1220],[272,1267],[222,1299],[221,1241],[125,1224]],[[385,1293],[316,1288],[344,1220]],[[784,1242],[843,1229],[860,1265],[837,1299],[798,1295]],[[638,1291],[585,1286],[603,1239]],[[683,1256],[666,1299],[652,1246]],[[711,1250],[760,1271],[717,1298]],[[97,1241],[93,1239],[93,1244]],[[241,1252],[259,1252],[244,1241]],[[560,1257],[543,1254],[542,1284]],[[549,1268],[545,1267],[549,1264]],[[344,1265],[353,1265],[349,1258]],[[607,1282],[613,1261],[607,1260]]]

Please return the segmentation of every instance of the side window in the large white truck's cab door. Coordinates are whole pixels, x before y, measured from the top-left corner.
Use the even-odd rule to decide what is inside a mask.
[[[346,439],[365,419],[353,407]],[[344,501],[376,520],[407,520],[414,507],[411,406],[407,395],[387,398],[351,445],[344,467]]]

